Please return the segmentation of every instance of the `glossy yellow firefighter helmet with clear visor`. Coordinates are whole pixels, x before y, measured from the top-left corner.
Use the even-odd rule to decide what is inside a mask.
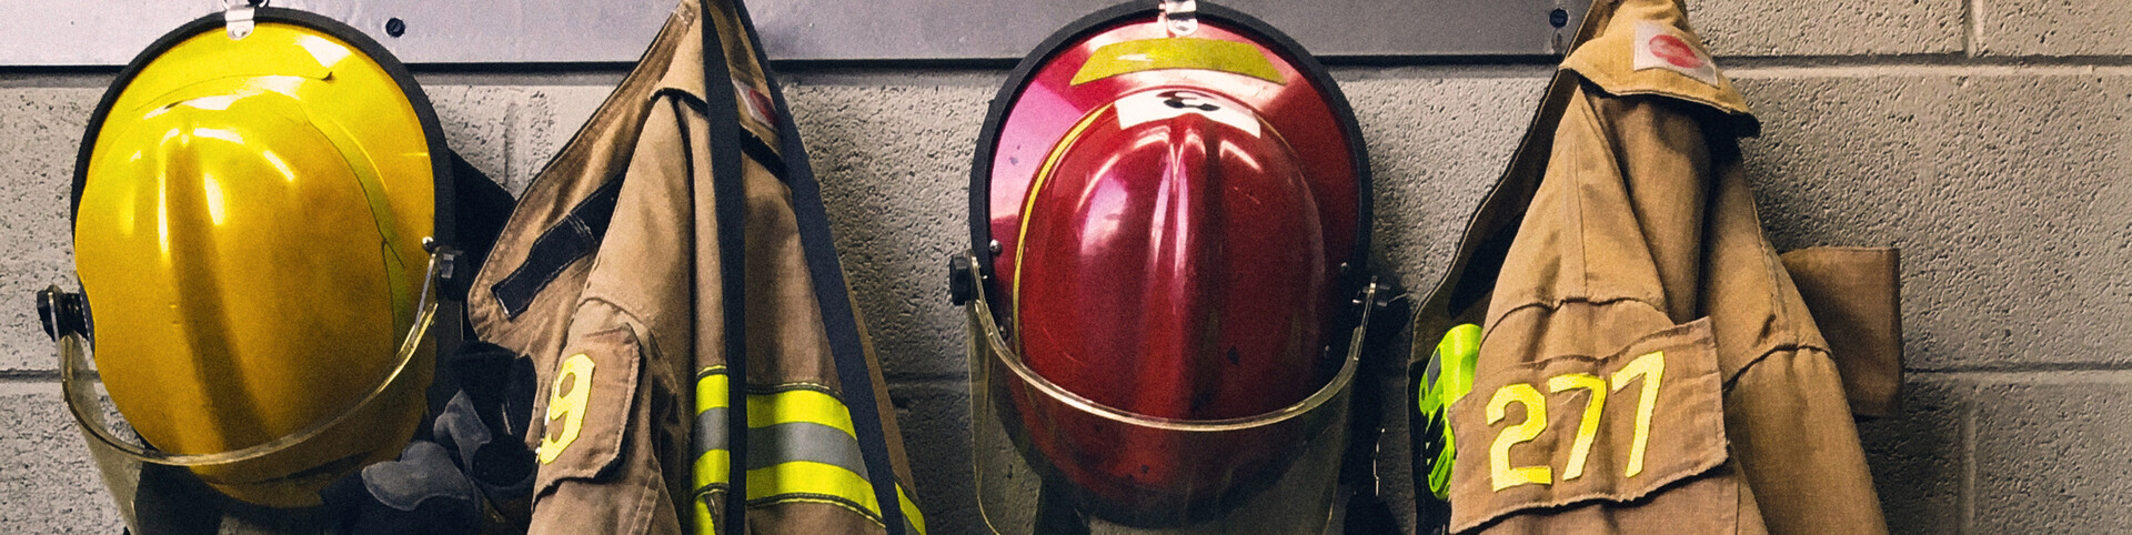
[[[426,409],[448,162],[407,70],[326,17],[237,9],[134,58],[75,168],[85,307],[51,307],[81,309],[62,373],[130,522],[107,454],[273,507],[399,454]],[[98,420],[87,341],[139,439]]]

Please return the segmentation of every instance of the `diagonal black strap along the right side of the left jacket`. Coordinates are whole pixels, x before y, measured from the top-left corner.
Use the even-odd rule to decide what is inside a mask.
[[[755,32],[755,21],[748,19],[748,6],[742,0],[733,0],[733,11],[740,15],[740,30],[746,34],[755,49],[755,62],[768,66],[770,60],[763,55],[761,36]],[[708,55],[708,51],[706,51]],[[870,484],[874,486],[874,497],[881,497],[881,524],[887,526],[889,535],[904,535],[904,512],[891,503],[900,501],[902,495],[895,490],[895,465],[889,463],[889,441],[881,426],[881,405],[874,399],[872,386],[874,375],[866,364],[866,347],[859,339],[859,320],[851,309],[851,292],[844,288],[844,271],[838,266],[834,241],[829,237],[829,213],[821,202],[821,183],[814,181],[814,168],[808,164],[806,147],[800,143],[800,128],[791,121],[791,111],[785,107],[785,90],[778,87],[776,77],[765,77],[770,85],[770,100],[778,111],[778,145],[785,153],[787,183],[793,192],[793,215],[800,224],[800,247],[806,256],[808,279],[814,281],[814,301],[821,307],[823,330],[829,337],[829,354],[836,358],[836,379],[844,386],[844,405],[851,407],[851,426],[859,435],[859,456],[866,460],[868,473],[872,473]],[[706,83],[731,87],[731,83]],[[723,102],[733,102],[731,96]],[[727,113],[738,113],[725,107]],[[733,121],[733,130],[738,121]],[[721,226],[723,228],[723,226]],[[744,375],[733,375],[744,377]],[[738,392],[738,390],[736,390]]]

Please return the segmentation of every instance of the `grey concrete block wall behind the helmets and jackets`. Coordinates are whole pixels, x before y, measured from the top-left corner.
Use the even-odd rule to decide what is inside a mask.
[[[1861,424],[1897,533],[2132,531],[2132,4],[1693,2],[1763,119],[1778,249],[1904,249],[1906,405]],[[1337,66],[1377,245],[1433,281],[1531,117],[1544,64]],[[934,533],[979,533],[962,311],[968,160],[1004,68],[785,66]],[[422,70],[450,145],[514,192],[618,68]],[[30,292],[70,286],[66,188],[109,70],[0,66],[0,531],[115,533]],[[1403,437],[1403,433],[1392,433]],[[1405,482],[1405,443],[1386,443]]]

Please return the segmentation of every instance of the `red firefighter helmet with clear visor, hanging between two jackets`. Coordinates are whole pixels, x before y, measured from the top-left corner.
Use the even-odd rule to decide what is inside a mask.
[[[1324,431],[1245,422],[1335,390],[1367,237],[1332,81],[1249,17],[1198,15],[1175,32],[1128,4],[1055,34],[994,100],[972,171],[985,320],[1017,371],[994,379],[1000,420],[1121,522],[1237,501]]]

